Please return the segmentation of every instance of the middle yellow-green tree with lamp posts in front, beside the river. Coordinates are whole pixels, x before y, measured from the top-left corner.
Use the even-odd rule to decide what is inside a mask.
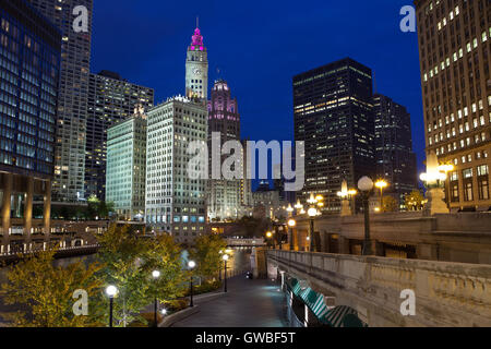
[[[99,257],[106,265],[101,277],[119,290],[113,310],[117,326],[146,322],[140,312],[155,296],[167,300],[183,293],[180,248],[171,237],[144,238],[129,226],[111,225],[98,240]],[[160,272],[157,280],[152,278],[154,269]]]

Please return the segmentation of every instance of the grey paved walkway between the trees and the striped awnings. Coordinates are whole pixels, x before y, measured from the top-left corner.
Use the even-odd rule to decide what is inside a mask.
[[[228,292],[213,300],[197,301],[200,312],[172,327],[285,327],[283,292],[271,280],[228,280]]]

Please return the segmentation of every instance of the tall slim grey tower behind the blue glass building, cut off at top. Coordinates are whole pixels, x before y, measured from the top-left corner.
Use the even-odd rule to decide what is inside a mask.
[[[53,200],[84,197],[93,0],[29,0],[62,33]],[[87,9],[87,32],[75,32],[76,7]]]

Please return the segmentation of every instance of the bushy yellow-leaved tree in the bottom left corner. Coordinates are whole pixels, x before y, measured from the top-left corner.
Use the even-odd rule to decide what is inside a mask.
[[[103,325],[101,280],[96,276],[101,264],[85,266],[80,261],[67,267],[53,266],[56,251],[24,257],[7,275],[1,286],[5,304],[21,309],[3,315],[16,327],[91,327]],[[76,316],[75,290],[88,296],[88,315]]]

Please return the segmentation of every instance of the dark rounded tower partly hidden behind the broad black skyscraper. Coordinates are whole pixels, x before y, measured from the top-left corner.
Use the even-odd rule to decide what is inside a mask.
[[[373,97],[376,176],[388,182],[388,192],[403,198],[417,188],[416,154],[412,152],[411,118],[391,98]]]

